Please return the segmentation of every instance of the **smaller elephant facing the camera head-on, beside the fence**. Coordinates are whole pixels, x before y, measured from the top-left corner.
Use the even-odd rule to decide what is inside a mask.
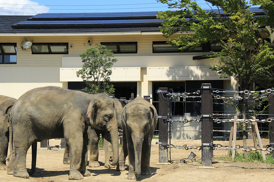
[[[139,178],[141,174],[150,175],[151,140],[158,122],[155,107],[142,97],[136,97],[123,108],[121,119],[123,145],[116,170],[125,170],[128,155],[128,179]]]

